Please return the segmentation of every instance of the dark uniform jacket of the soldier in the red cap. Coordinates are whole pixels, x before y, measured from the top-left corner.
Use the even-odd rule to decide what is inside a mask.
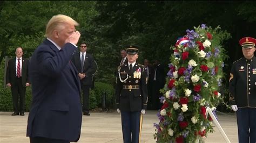
[[[256,108],[256,58],[241,58],[230,73],[230,104],[238,108]]]

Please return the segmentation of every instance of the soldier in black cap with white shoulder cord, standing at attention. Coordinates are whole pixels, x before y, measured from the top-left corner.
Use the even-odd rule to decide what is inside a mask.
[[[116,85],[116,108],[121,112],[123,140],[139,142],[142,130],[142,115],[147,107],[147,73],[136,62],[138,47],[126,49],[128,63],[118,66]]]

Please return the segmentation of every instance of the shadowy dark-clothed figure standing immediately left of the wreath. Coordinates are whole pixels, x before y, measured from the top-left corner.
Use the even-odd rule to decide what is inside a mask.
[[[154,61],[154,72],[153,72],[153,81],[152,81],[152,109],[159,110],[161,108],[160,103],[160,89],[164,88],[165,84],[165,72],[164,66],[158,61]]]

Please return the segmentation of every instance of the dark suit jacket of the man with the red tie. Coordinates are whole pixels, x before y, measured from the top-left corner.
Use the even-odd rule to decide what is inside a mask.
[[[29,80],[29,60],[22,58],[22,85],[26,87],[26,82],[30,83]],[[11,83],[11,85],[16,84],[16,57],[8,61],[8,66],[6,70],[6,84]]]

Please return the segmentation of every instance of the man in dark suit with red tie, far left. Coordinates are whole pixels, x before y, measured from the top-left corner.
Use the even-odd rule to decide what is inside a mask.
[[[21,47],[16,48],[15,54],[16,58],[8,61],[6,86],[11,87],[12,102],[14,103],[12,116],[24,116],[26,87],[30,85],[29,60],[22,58]]]

